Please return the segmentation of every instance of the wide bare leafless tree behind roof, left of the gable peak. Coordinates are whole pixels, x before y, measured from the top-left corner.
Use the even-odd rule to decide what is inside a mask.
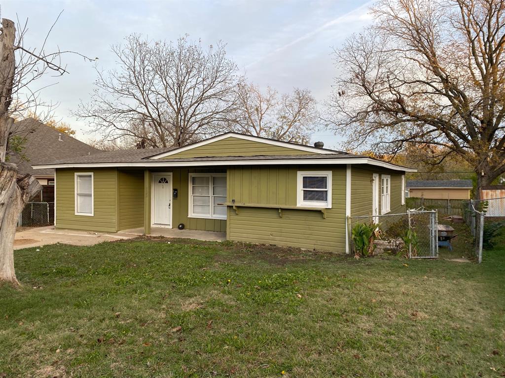
[[[132,34],[112,51],[119,69],[97,70],[91,101],[75,112],[106,139],[184,146],[218,132],[235,108],[241,77],[221,42],[204,49],[187,36],[172,44]]]

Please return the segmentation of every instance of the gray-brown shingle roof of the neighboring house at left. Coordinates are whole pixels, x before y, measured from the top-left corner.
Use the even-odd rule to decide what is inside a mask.
[[[60,133],[44,123],[33,118],[15,122],[13,133],[25,138],[21,156],[18,153],[9,154],[9,162],[18,166],[19,174],[32,174],[37,177],[54,176],[52,168],[34,170],[32,165],[47,164],[57,159],[66,159],[80,155],[95,154],[99,150]]]

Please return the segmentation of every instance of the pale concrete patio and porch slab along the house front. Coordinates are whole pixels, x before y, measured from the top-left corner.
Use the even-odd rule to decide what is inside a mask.
[[[143,228],[133,228],[117,233],[55,229],[54,226],[34,227],[16,232],[14,249],[38,247],[63,243],[72,245],[94,245],[104,241],[133,239],[143,235]],[[226,240],[225,232],[179,230],[177,228],[151,227],[151,236],[179,237],[196,240]]]

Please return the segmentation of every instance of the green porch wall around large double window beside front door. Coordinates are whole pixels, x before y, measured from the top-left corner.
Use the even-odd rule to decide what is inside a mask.
[[[162,171],[162,170],[160,170]],[[166,169],[163,172],[172,172],[172,187],[177,189],[177,198],[172,199],[172,228],[183,223],[190,230],[226,232],[226,219],[204,219],[188,217],[189,210],[189,173],[226,173],[220,168],[209,169]],[[156,173],[151,171],[151,175]]]

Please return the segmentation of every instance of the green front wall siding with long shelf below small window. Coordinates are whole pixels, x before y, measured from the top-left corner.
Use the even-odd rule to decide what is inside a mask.
[[[297,171],[328,167],[230,167],[228,201],[296,206]],[[228,209],[228,239],[345,251],[345,167],[332,169],[332,208],[320,211],[239,207]]]

